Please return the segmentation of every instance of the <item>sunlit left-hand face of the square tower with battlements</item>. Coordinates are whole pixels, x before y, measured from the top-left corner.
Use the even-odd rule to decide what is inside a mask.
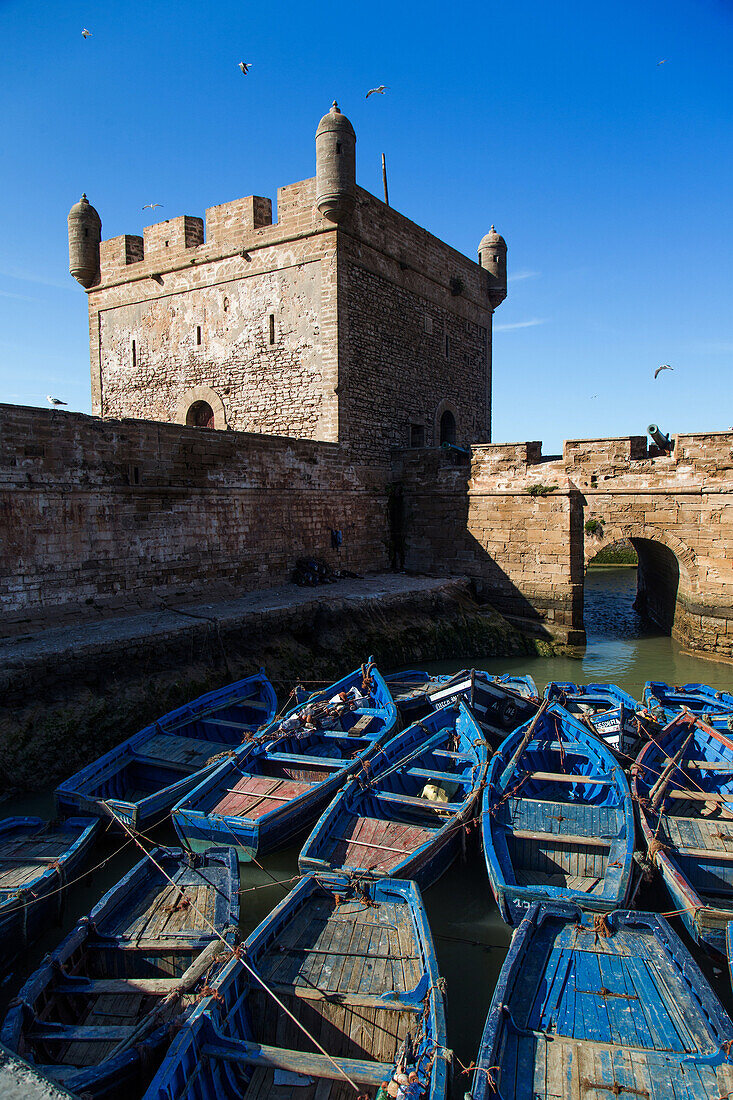
[[[92,409],[215,427],[338,438],[336,233],[315,180],[249,196],[101,244],[89,292]],[[134,346],[133,346],[134,342]]]

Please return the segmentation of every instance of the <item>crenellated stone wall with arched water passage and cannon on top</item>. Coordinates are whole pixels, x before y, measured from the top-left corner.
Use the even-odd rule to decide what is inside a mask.
[[[463,471],[400,455],[406,561],[484,582],[505,615],[582,636],[583,562],[630,539],[639,603],[691,649],[733,657],[733,435],[474,447]],[[589,520],[595,530],[586,532]]]

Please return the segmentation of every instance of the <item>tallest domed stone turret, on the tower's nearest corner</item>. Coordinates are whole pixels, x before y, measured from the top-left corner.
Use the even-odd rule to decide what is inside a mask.
[[[316,131],[316,206],[329,221],[343,221],[357,200],[357,135],[333,100]]]

